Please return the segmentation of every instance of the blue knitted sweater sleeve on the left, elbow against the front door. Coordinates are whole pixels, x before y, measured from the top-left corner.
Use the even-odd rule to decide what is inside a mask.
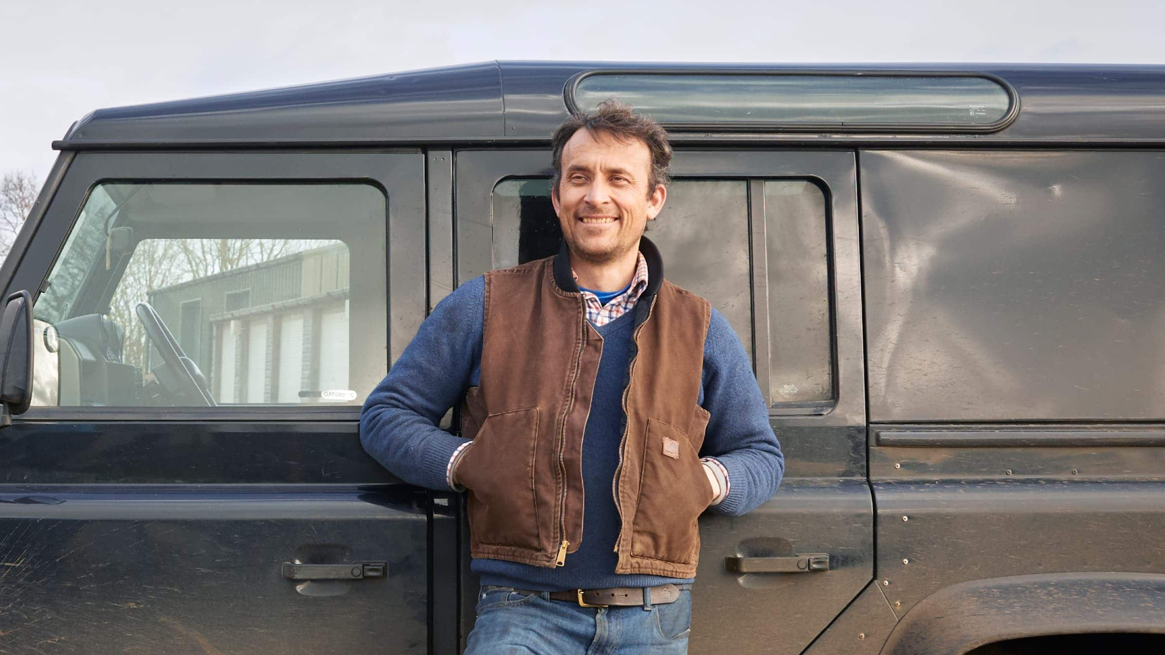
[[[468,440],[437,425],[480,365],[485,290],[485,278],[478,277],[442,300],[365,400],[360,442],[404,482],[451,490],[446,469]]]

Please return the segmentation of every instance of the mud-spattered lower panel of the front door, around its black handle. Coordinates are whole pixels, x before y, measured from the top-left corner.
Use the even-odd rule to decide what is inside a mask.
[[[0,653],[356,653],[373,643],[425,653],[419,500],[405,487],[0,487]],[[369,560],[387,560],[389,577],[281,576],[284,561]],[[313,584],[330,589],[303,589]]]

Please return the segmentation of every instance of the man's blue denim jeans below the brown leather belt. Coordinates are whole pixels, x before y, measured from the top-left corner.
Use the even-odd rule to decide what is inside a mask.
[[[687,590],[666,605],[581,607],[487,585],[465,655],[686,655],[691,627]]]

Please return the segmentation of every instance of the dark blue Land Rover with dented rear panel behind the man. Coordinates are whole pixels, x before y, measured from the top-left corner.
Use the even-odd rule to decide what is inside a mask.
[[[0,286],[0,653],[456,655],[463,499],[360,446],[551,130],[672,133],[651,238],[784,448],[692,652],[1165,652],[1165,66],[483,63],[101,109]],[[459,417],[446,417],[457,430]]]

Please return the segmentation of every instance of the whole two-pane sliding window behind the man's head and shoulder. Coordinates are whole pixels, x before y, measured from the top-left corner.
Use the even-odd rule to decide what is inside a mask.
[[[826,206],[821,187],[804,179],[677,179],[648,223],[668,279],[725,315],[755,369],[768,371],[770,405],[793,412],[834,398]],[[495,269],[558,252],[545,178],[500,181],[490,220]],[[764,307],[767,320],[754,320]]]

